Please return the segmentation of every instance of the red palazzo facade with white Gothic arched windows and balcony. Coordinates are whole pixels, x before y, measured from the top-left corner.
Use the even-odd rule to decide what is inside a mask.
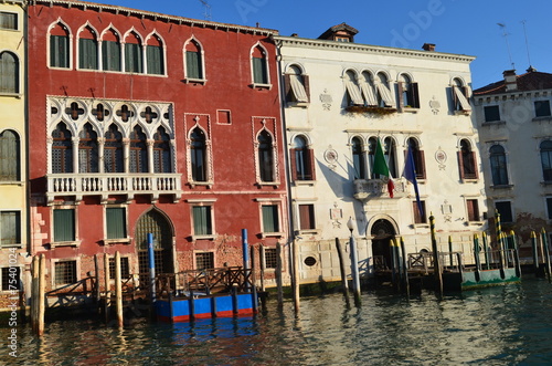
[[[242,265],[242,229],[272,261],[288,239],[275,31],[39,0],[28,32],[30,247],[49,287],[98,253],[144,273],[147,233],[158,272]]]

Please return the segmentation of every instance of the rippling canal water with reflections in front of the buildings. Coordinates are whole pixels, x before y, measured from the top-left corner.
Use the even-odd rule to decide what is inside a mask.
[[[273,296],[274,297],[274,296]],[[136,320],[124,330],[95,321],[49,323],[42,339],[0,327],[8,365],[524,365],[552,364],[552,284],[521,284],[446,295],[341,294],[302,297],[255,317],[164,324]]]

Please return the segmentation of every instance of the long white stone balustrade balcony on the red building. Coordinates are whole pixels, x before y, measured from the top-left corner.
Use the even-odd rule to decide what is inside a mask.
[[[79,202],[84,196],[102,196],[106,202],[108,196],[126,196],[127,201],[135,195],[149,195],[152,202],[160,195],[171,195],[178,201],[182,195],[182,175],[142,172],[142,174],[51,174],[47,175],[47,202],[56,197],[74,196]]]

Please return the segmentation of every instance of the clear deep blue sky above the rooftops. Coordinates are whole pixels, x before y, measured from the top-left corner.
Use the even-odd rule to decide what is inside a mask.
[[[550,0],[96,0],[126,8],[274,29],[316,39],[346,22],[354,42],[476,56],[473,88],[522,74],[532,65],[552,73]],[[208,3],[205,7],[203,3]]]

